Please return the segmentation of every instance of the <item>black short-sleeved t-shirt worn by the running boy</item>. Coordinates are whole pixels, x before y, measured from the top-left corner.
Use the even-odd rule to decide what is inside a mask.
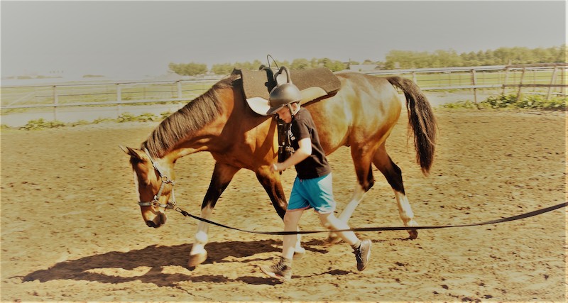
[[[294,119],[290,123],[288,136],[290,136],[290,144],[294,150],[300,148],[298,141],[303,138],[310,138],[312,141],[312,155],[295,165],[297,176],[300,179],[322,177],[332,172],[332,167],[329,166],[329,162],[325,158],[320,136],[317,135],[317,129],[310,111],[303,107],[300,108],[300,111],[294,115]]]

